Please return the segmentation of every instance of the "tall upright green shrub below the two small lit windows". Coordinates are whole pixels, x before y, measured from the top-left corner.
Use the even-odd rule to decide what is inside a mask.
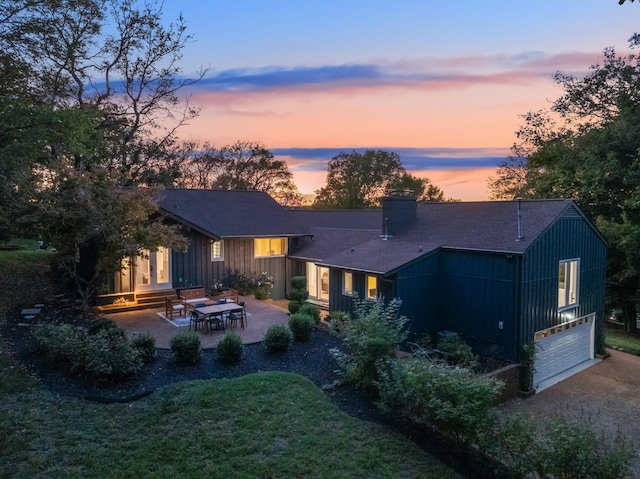
[[[394,357],[398,345],[407,337],[408,319],[398,315],[400,304],[398,299],[385,305],[354,298],[356,319],[344,323],[340,332],[348,352],[332,350],[346,381],[375,393],[376,362]]]

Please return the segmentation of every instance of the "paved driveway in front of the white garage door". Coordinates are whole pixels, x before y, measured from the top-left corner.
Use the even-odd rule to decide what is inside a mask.
[[[582,416],[605,436],[621,432],[637,451],[632,474],[640,478],[640,357],[607,351],[610,358],[528,399],[513,399],[501,408],[537,418],[554,413]]]

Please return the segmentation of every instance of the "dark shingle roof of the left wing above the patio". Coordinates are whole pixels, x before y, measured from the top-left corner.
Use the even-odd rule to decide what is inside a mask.
[[[309,234],[262,191],[167,189],[158,193],[158,202],[169,216],[214,238]]]

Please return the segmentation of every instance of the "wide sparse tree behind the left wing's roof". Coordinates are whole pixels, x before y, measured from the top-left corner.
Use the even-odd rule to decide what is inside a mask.
[[[177,182],[181,186],[264,191],[287,206],[302,201],[287,164],[258,142],[237,141],[219,150],[208,143],[188,142],[181,154]]]

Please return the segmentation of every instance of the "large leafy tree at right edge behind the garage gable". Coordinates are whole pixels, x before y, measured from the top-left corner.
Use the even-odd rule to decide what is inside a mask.
[[[634,35],[631,47],[637,47]],[[640,63],[605,49],[583,78],[558,73],[564,93],[548,110],[525,115],[525,152],[503,164],[499,195],[576,201],[609,241],[608,303],[635,330],[640,301]]]

